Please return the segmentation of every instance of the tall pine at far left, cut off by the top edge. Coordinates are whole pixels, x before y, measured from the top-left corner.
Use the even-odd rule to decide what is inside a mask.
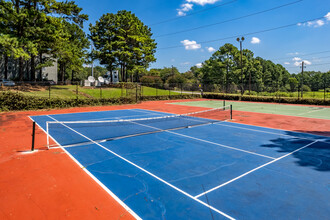
[[[0,0],[1,33],[15,39],[21,51],[19,60],[19,79],[23,80],[23,64],[31,59],[30,77],[34,79],[35,70],[52,65],[53,55],[66,41],[63,21],[81,25],[87,15],[80,14],[74,1],[56,0]],[[16,49],[17,50],[17,49]],[[35,56],[39,54],[39,64]],[[47,54],[47,58],[43,57]],[[15,56],[14,56],[15,57]]]

